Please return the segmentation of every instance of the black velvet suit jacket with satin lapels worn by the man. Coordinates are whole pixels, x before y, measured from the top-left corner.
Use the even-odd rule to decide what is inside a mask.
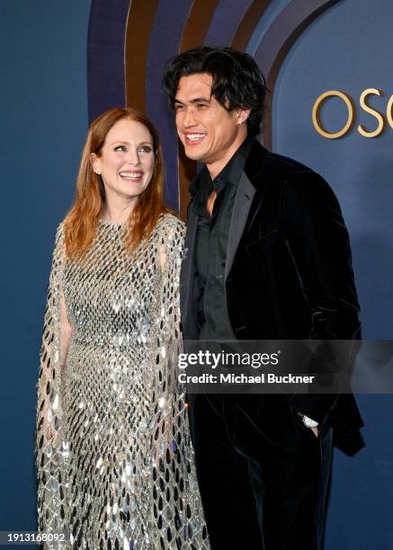
[[[185,340],[198,340],[194,272],[197,219],[189,205],[181,271]],[[225,289],[238,340],[360,338],[349,236],[338,201],[308,167],[255,141],[237,189],[228,235]],[[309,417],[358,430],[353,395],[294,395]]]

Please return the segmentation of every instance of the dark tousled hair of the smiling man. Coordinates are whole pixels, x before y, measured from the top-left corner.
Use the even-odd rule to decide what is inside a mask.
[[[163,88],[174,107],[174,97],[182,76],[208,73],[211,95],[227,110],[251,109],[248,133],[259,134],[263,119],[266,83],[255,60],[232,48],[195,48],[175,56],[165,65]]]

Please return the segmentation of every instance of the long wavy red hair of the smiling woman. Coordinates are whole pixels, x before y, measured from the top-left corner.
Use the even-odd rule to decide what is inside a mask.
[[[164,160],[156,128],[147,116],[130,107],[115,107],[95,119],[87,133],[79,173],[76,179],[76,200],[65,219],[65,244],[68,259],[78,260],[93,243],[100,217],[103,215],[105,192],[101,176],[93,171],[90,155],[100,156],[105,137],[119,120],[140,122],[153,137],[155,164],[150,182],[132,209],[128,220],[129,231],[125,246],[131,253],[143,240],[147,240],[156,226],[158,217],[165,212],[174,213],[164,204]]]

